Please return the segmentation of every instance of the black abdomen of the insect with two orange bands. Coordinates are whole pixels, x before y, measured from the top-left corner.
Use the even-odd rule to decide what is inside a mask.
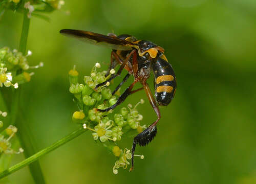
[[[177,85],[173,67],[162,55],[153,61],[152,69],[155,75],[156,101],[159,105],[168,105],[174,98]]]

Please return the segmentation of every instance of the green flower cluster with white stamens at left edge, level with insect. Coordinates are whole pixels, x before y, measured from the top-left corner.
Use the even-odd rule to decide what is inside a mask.
[[[43,65],[29,66],[27,57],[32,54],[28,51],[26,56],[16,49],[11,51],[8,47],[0,49],[0,87],[13,86],[18,88],[19,84],[29,82],[34,73],[28,73],[29,69],[38,68]]]

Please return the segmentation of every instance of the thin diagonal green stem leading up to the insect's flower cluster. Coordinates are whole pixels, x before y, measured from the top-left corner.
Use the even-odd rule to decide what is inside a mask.
[[[35,160],[39,159],[41,156],[44,156],[47,153],[50,153],[51,151],[57,149],[58,147],[68,143],[69,141],[75,139],[75,137],[79,136],[83,132],[85,132],[87,129],[84,129],[80,127],[79,129],[73,131],[72,133],[68,134],[67,136],[63,137],[61,140],[57,141],[56,143],[52,144],[51,146],[42,149],[41,151],[37,152],[36,154],[28,157],[27,159],[23,160],[22,162],[10,167],[9,169],[3,171],[0,173],[0,179],[8,176],[9,174],[18,171],[19,169],[22,169],[23,167],[35,162]]]

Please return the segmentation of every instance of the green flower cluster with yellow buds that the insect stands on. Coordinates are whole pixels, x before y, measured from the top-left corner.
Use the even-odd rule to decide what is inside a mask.
[[[113,173],[118,173],[118,168],[124,169],[129,165],[129,159],[132,158],[131,151],[127,148],[120,149],[118,143],[125,134],[138,134],[142,132],[146,126],[141,125],[143,116],[136,109],[137,105],[143,104],[141,99],[134,107],[129,104],[122,107],[118,112],[110,110],[108,112],[100,112],[97,109],[105,109],[116,103],[118,91],[112,95],[109,88],[110,83],[94,90],[99,83],[109,79],[106,71],[97,72],[100,64],[96,63],[92,68],[90,76],[84,76],[83,83],[78,83],[78,72],[76,68],[69,71],[70,93],[74,95],[74,102],[78,106],[78,111],[73,113],[73,121],[92,132],[93,139],[106,147],[118,159],[113,167]],[[110,74],[115,71],[111,70]],[[144,158],[143,155],[135,155]]]

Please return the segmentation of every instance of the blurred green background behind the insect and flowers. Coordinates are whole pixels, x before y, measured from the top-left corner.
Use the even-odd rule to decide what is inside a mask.
[[[76,0],[49,16],[50,22],[31,18],[28,59],[45,66],[22,93],[37,150],[77,128],[68,71],[75,64],[82,80],[95,62],[105,69],[110,61],[110,49],[64,37],[61,29],[114,31],[157,43],[174,67],[178,88],[173,102],[160,109],[155,140],[136,149],[145,158],[135,159],[134,172],[119,169],[114,175],[116,158],[86,132],[40,159],[48,183],[256,183],[256,1]],[[22,19],[19,13],[4,14],[0,48],[18,48]],[[153,77],[148,83],[153,90]],[[156,114],[144,91],[124,104],[141,98],[146,103],[138,109],[150,125]],[[122,143],[131,145],[132,139]],[[22,159],[15,156],[12,164]],[[28,167],[9,179],[33,183]]]

